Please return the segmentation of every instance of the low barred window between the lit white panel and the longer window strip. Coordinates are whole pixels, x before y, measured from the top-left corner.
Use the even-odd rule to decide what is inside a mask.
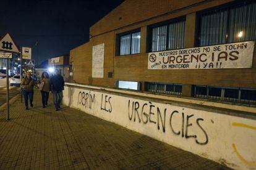
[[[146,91],[165,93],[165,94],[182,94],[182,85],[181,84],[171,84],[171,83],[147,83]]]

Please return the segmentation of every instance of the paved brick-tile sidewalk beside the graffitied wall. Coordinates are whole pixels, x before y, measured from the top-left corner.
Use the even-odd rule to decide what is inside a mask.
[[[52,100],[35,91],[34,108],[0,112],[0,169],[228,169]]]

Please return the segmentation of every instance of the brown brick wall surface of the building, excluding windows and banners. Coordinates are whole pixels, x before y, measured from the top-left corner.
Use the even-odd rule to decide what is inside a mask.
[[[180,2],[180,3],[178,3]],[[253,68],[214,70],[148,70],[147,25],[186,15],[186,47],[194,47],[196,13],[229,1],[203,1],[191,8],[181,9],[202,1],[125,1],[90,29],[90,42],[70,51],[74,60],[74,80],[77,83],[114,87],[116,80],[162,83],[201,84],[211,86],[256,87],[255,52]],[[155,17],[161,15],[160,17]],[[119,20],[119,17],[122,17]],[[155,18],[151,18],[155,17]],[[148,19],[151,18],[151,19]],[[148,19],[148,20],[146,20]],[[140,22],[141,20],[145,20]],[[130,25],[134,23],[133,25]],[[125,26],[129,25],[129,26]],[[118,28],[118,29],[117,29]],[[116,56],[116,36],[140,28],[140,54]],[[109,31],[113,30],[113,31]],[[95,36],[99,34],[98,36]],[[105,43],[104,78],[92,78],[92,46]],[[108,78],[113,72],[113,78]],[[186,92],[189,93],[189,92]]]

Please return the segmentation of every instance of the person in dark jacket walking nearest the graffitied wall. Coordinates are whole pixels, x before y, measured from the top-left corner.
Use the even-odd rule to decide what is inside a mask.
[[[49,91],[53,93],[53,102],[58,111],[61,108],[61,102],[63,98],[62,91],[64,90],[64,79],[60,75],[59,70],[55,70],[55,74],[49,79]]]

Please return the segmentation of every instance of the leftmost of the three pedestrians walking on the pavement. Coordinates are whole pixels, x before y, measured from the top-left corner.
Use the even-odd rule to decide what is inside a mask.
[[[34,95],[34,80],[32,79],[30,72],[26,73],[25,78],[22,79],[20,84],[22,87],[22,94],[25,99],[25,107],[28,110],[28,98],[30,101],[30,107],[33,107],[33,95]]]

